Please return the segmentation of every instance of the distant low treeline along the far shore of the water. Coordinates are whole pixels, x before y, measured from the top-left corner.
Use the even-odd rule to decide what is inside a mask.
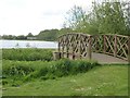
[[[70,28],[61,28],[61,29],[44,29],[41,30],[38,35],[32,35],[31,33],[28,33],[28,35],[3,35],[1,36],[2,39],[16,39],[16,40],[47,40],[47,41],[54,41],[57,39],[60,35],[63,35],[65,33],[73,33],[74,30]]]

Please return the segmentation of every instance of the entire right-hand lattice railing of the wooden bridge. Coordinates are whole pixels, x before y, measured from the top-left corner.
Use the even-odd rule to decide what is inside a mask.
[[[92,36],[92,50],[129,61],[130,37],[122,35]]]

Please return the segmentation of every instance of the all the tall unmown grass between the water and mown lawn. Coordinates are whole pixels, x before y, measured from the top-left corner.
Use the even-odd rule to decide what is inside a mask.
[[[35,78],[55,79],[84,73],[99,65],[95,61],[87,60],[53,61],[52,49],[3,49],[2,56],[3,85]]]

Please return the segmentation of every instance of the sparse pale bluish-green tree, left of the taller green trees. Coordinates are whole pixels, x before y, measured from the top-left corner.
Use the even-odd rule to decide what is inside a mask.
[[[67,12],[66,22],[64,26],[73,28],[74,30],[82,30],[86,23],[86,11],[80,7],[74,7]]]

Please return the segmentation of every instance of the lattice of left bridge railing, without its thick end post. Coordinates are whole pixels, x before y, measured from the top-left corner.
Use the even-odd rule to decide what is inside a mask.
[[[89,36],[86,34],[67,34],[58,38],[58,51],[64,53],[72,53],[80,58],[87,57],[87,47]]]

